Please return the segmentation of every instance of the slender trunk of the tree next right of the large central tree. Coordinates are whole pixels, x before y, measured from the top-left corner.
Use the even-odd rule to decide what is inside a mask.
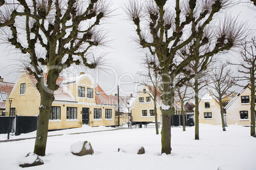
[[[199,98],[198,81],[195,79],[195,140],[199,140]]]

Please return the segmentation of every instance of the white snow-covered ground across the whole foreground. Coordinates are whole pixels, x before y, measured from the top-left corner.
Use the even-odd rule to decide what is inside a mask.
[[[229,126],[223,132],[220,126],[200,124],[200,140],[194,140],[194,127],[172,128],[171,155],[160,155],[160,134],[154,128],[120,129],[82,128],[49,132],[63,134],[48,137],[46,156],[41,157],[42,166],[28,169],[202,169],[217,170],[219,166],[243,167],[245,170],[256,169],[256,138],[250,137],[250,128]],[[96,133],[70,134],[79,132],[101,131]],[[35,132],[10,136],[10,139],[30,138]],[[0,135],[6,140],[6,134]],[[78,157],[70,152],[70,147],[78,141],[90,141],[94,155]],[[136,148],[143,146],[146,153],[117,152],[118,148]],[[34,139],[0,143],[0,169],[22,169],[17,160],[20,156],[33,152]]]

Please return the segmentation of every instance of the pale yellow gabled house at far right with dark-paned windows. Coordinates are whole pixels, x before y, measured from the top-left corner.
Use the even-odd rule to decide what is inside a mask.
[[[251,92],[247,85],[245,88],[241,89],[238,95],[236,95],[225,107],[225,111],[227,113],[227,124],[250,126],[250,101]]]

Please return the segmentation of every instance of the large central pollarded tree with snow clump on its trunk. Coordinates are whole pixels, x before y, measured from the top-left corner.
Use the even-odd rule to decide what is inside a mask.
[[[220,20],[217,14],[232,4],[230,0],[210,1],[129,1],[125,12],[136,26],[138,43],[156,55],[160,63],[162,77],[162,153],[171,154],[171,115],[174,114],[174,91],[195,74],[175,81],[192,60],[213,56],[236,46],[243,38],[244,26],[233,20]],[[174,5],[173,5],[174,4]],[[183,8],[181,8],[183,4]],[[172,6],[173,5],[173,6]],[[213,25],[212,25],[213,26]],[[205,36],[204,30],[215,29],[213,37]],[[185,60],[176,55],[177,51],[191,43],[196,49]],[[204,55],[200,48],[211,44]],[[199,50],[199,51],[198,51]]]

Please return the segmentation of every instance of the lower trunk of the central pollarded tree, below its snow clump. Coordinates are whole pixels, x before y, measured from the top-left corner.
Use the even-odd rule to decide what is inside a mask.
[[[171,115],[169,110],[162,110],[162,154],[171,154]]]

